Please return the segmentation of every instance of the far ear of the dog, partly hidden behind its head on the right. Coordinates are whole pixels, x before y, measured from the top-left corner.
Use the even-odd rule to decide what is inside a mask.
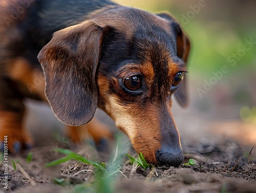
[[[168,20],[170,27],[172,29],[172,32],[176,36],[176,51],[177,56],[179,58],[182,58],[183,61],[186,63],[189,50],[190,50],[190,42],[187,36],[182,32],[180,25],[178,22],[168,13],[160,13],[158,16]],[[176,90],[175,97],[178,100],[179,104],[181,106],[187,106],[188,104],[188,94],[186,89],[186,75],[184,75],[184,79],[179,86],[179,88]]]

